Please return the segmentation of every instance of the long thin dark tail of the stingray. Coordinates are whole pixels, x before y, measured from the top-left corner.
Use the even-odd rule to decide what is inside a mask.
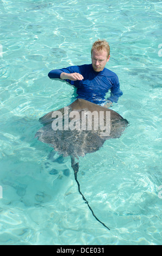
[[[96,218],[96,220],[97,220],[99,223],[101,223],[105,228],[109,229],[103,222],[101,222],[101,221],[98,220],[98,218],[97,218],[96,215],[94,214],[94,211],[91,209],[91,207],[90,207],[88,201],[85,199],[84,195],[83,195],[82,192],[80,191],[80,184],[79,184],[79,182],[78,182],[78,180],[77,180],[77,173],[78,173],[78,170],[79,170],[79,162],[76,163],[74,157],[72,157],[72,156],[71,156],[71,167],[72,167],[73,170],[74,170],[74,178],[75,178],[75,180],[76,180],[76,182],[77,182],[77,185],[78,185],[78,191],[79,191],[79,193],[81,194],[81,196],[82,196],[83,200],[85,201],[85,203],[88,205],[89,209],[91,210],[92,215],[93,215],[93,216]],[[110,230],[110,229],[109,229],[109,230]]]

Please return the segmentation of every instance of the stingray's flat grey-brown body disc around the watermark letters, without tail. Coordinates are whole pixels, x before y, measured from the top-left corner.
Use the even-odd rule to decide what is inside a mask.
[[[68,107],[68,114],[71,111],[77,111],[79,113],[79,123],[82,127],[82,112],[93,112],[97,113],[107,111],[110,112],[110,134],[104,135],[101,130],[94,130],[94,123],[96,122],[95,117],[93,119],[91,130],[65,130],[64,125],[62,129],[53,130],[52,123],[56,118],[52,116],[55,111],[49,112],[40,118],[40,122],[44,125],[35,135],[38,137],[39,141],[51,145],[55,151],[63,156],[84,156],[87,153],[93,153],[102,147],[104,141],[110,138],[119,138],[124,131],[125,127],[128,125],[128,121],[123,119],[121,115],[112,111],[111,109],[98,106],[86,100],[78,99],[74,101]],[[63,124],[65,121],[64,108],[59,109],[59,112],[63,115]],[[68,124],[71,119],[68,118]]]

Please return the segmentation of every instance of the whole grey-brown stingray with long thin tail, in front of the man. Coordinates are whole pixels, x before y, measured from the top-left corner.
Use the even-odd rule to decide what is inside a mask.
[[[49,112],[39,121],[43,127],[36,132],[35,137],[51,145],[58,154],[71,157],[71,167],[79,193],[96,220],[109,229],[96,217],[80,191],[77,179],[79,157],[99,150],[107,139],[119,138],[128,121],[112,109],[83,99],[77,99],[67,107]]]

